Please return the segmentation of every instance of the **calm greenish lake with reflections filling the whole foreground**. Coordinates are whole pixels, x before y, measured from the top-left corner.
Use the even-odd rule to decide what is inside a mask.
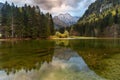
[[[0,80],[120,80],[120,40],[2,41]]]

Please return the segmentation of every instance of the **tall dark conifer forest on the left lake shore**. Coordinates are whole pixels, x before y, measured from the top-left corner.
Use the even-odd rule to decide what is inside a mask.
[[[17,7],[7,2],[1,9],[3,38],[48,38],[54,34],[51,14],[43,14],[38,6]]]

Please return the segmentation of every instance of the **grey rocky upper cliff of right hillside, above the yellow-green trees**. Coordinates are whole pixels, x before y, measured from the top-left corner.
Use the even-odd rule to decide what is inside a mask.
[[[120,0],[96,0],[88,7],[88,10],[86,10],[83,17],[89,16],[92,13],[99,14],[102,11],[105,11],[106,9],[114,7],[118,4],[120,4]]]

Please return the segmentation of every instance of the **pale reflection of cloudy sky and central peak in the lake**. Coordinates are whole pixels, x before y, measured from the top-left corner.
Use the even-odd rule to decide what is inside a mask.
[[[62,53],[59,54],[59,51]],[[70,53],[68,53],[70,52]],[[99,80],[102,79],[91,71],[82,57],[69,48],[56,48],[52,62],[44,62],[40,69],[26,69],[10,73],[0,72],[1,80]],[[103,80],[103,79],[102,79]]]

